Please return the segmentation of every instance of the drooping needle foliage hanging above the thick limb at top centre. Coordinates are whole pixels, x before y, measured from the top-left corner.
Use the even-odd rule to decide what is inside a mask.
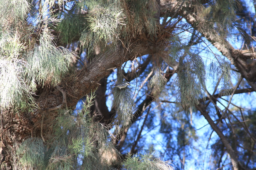
[[[114,48],[119,40],[130,41],[132,37],[154,39],[159,30],[157,11],[156,0],[83,0],[73,3],[71,9],[62,14],[57,29],[65,43],[77,40],[80,34],[79,41],[91,56],[95,51]]]

